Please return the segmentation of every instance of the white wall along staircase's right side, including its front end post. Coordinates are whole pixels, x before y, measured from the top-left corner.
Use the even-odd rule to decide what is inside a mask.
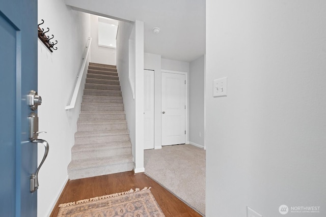
[[[129,55],[129,37],[134,30],[135,55]],[[132,37],[131,37],[132,38]],[[134,172],[144,172],[144,23],[136,20],[134,23],[119,21],[117,37],[117,68],[123,103],[128,122],[132,155],[134,157]],[[133,99],[129,84],[129,58],[135,58],[135,86]]]

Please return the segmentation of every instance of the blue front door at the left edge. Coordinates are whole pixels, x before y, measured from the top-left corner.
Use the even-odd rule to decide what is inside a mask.
[[[0,0],[0,216],[37,216],[27,103],[37,91],[37,0]]]

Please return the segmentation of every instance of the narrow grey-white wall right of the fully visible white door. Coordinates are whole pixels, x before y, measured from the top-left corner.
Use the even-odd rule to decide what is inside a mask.
[[[191,61],[189,73],[189,143],[204,147],[204,55]]]

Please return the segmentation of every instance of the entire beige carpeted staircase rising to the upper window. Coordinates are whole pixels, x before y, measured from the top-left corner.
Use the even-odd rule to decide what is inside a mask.
[[[116,66],[90,63],[69,179],[131,171],[133,161]]]

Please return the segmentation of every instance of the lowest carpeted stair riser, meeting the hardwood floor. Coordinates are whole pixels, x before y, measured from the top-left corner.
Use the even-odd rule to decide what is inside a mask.
[[[79,178],[87,178],[93,176],[131,171],[132,169],[133,169],[133,163],[129,162],[129,163],[123,163],[119,165],[87,168],[83,170],[70,170],[70,171],[68,170],[68,175],[69,175],[69,179],[73,180]]]

